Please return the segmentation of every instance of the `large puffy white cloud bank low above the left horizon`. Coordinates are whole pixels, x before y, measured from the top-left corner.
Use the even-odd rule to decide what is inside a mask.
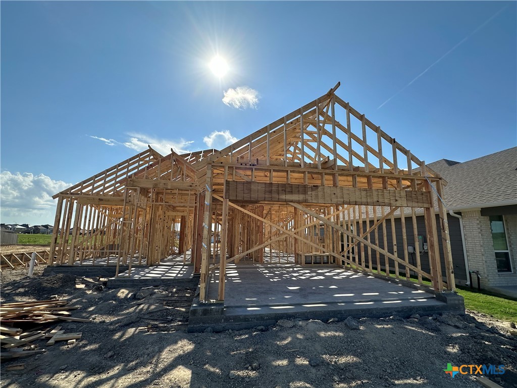
[[[47,175],[0,173],[0,214],[4,223],[53,223],[57,200],[52,196],[72,184]]]

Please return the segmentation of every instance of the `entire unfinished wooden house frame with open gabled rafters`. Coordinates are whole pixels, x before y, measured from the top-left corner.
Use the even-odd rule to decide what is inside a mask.
[[[433,198],[446,182],[338,87],[223,150],[162,156],[149,147],[58,193],[49,264],[153,265],[190,249],[203,302],[211,272],[222,301],[226,264],[250,261],[345,265],[454,290],[446,210]],[[72,229],[70,245],[58,228]],[[425,270],[418,249],[408,255],[422,234]]]

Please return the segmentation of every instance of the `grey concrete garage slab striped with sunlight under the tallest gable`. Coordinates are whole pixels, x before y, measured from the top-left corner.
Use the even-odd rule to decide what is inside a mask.
[[[269,326],[279,319],[382,318],[443,312],[464,314],[463,298],[408,287],[345,268],[292,264],[239,264],[226,270],[222,302],[194,300],[190,332]],[[217,299],[218,274],[212,274],[208,295]]]

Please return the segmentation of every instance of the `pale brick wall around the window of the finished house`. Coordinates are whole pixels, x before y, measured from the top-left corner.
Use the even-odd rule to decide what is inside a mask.
[[[479,271],[481,286],[512,286],[517,284],[517,216],[505,215],[505,227],[512,261],[512,274],[497,273],[490,218],[480,210],[462,212],[465,245],[470,271]]]

